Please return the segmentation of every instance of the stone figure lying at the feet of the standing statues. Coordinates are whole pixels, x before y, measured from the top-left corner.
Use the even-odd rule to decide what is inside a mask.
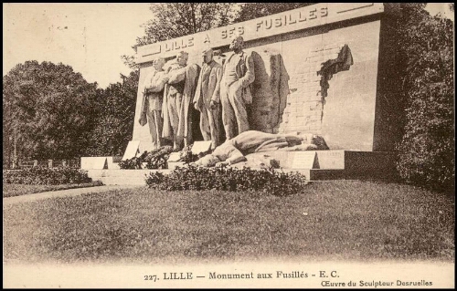
[[[215,151],[195,162],[196,165],[212,167],[232,165],[246,161],[246,155],[262,151],[321,151],[328,150],[325,140],[315,134],[274,134],[257,130],[240,133],[226,140]]]

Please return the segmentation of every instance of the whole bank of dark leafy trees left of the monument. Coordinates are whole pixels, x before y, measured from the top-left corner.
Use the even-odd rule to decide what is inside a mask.
[[[139,71],[97,88],[69,66],[27,61],[3,79],[4,157],[121,155],[132,138]]]

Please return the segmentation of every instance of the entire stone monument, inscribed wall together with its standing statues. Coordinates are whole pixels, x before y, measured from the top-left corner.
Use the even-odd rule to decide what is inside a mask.
[[[387,26],[396,11],[321,3],[137,47],[129,155],[257,140],[254,153],[240,145],[248,161],[272,157],[310,180],[388,175],[399,139]],[[294,137],[313,146],[297,148]],[[289,149],[274,151],[271,139]]]

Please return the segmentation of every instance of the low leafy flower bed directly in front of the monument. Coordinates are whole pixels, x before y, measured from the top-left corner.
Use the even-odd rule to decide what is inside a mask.
[[[169,175],[151,172],[146,177],[146,184],[153,189],[168,191],[210,190],[221,191],[260,191],[277,196],[286,196],[300,192],[306,179],[299,172],[278,172],[236,168],[205,168],[189,165],[176,168]]]

